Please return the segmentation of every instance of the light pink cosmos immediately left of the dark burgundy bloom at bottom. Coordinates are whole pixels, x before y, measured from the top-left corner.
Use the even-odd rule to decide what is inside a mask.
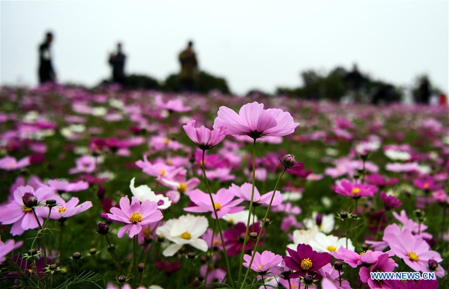
[[[276,255],[270,251],[264,251],[262,252],[262,254],[260,254],[259,252],[253,252],[253,254],[254,260],[253,263],[251,264],[252,271],[260,275],[269,275],[269,276],[276,276],[281,273],[277,268],[279,263],[281,263],[283,260],[280,255]],[[243,266],[248,268],[249,263],[251,261],[251,255],[245,254],[245,256],[243,256],[243,260],[245,260]]]

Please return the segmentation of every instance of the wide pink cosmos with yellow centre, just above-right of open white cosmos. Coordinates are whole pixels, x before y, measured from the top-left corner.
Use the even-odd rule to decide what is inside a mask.
[[[243,200],[232,200],[234,196],[226,189],[220,189],[216,194],[212,194],[215,203],[215,209],[217,210],[218,218],[222,218],[226,214],[238,213],[245,209],[244,206],[237,206]],[[205,213],[212,212],[212,218],[215,219],[214,209],[210,201],[209,194],[202,192],[201,190],[193,190],[189,193],[190,201],[195,203],[196,206],[185,208],[184,211],[193,213]]]

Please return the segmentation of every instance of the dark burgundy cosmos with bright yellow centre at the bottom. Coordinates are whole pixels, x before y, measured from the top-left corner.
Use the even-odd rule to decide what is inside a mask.
[[[318,253],[305,244],[299,244],[296,251],[287,248],[287,252],[290,256],[285,257],[285,265],[296,271],[290,274],[290,278],[304,277],[306,274],[314,272],[316,274],[314,279],[321,279],[317,270],[329,264],[332,258],[329,253]]]

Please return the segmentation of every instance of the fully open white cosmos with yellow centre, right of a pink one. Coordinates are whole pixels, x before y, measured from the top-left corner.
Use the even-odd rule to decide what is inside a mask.
[[[190,245],[203,252],[207,251],[207,243],[200,237],[206,232],[209,222],[206,217],[182,215],[178,219],[170,219],[156,229],[157,236],[163,236],[173,242],[165,248],[162,255],[173,256],[184,245]]]

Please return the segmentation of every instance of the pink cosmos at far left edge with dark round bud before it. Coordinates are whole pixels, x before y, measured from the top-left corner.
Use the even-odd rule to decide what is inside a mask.
[[[12,202],[0,210],[1,224],[14,224],[12,225],[10,231],[12,236],[22,235],[26,230],[39,227],[32,210],[22,208],[22,197],[25,193],[33,194],[37,198],[38,202],[56,197],[54,196],[53,191],[46,187],[40,187],[37,190],[34,190],[31,186],[18,187],[13,193],[14,199]],[[48,208],[38,206],[35,208],[35,211],[40,224],[43,224],[42,217],[46,217],[48,215]]]

